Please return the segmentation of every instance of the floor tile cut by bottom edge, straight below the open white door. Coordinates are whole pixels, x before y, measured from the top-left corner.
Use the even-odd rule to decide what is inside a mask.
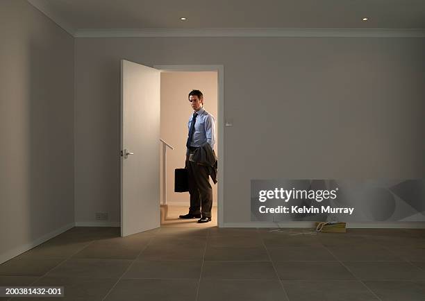
[[[121,279],[105,300],[194,301],[198,282],[198,279]]]

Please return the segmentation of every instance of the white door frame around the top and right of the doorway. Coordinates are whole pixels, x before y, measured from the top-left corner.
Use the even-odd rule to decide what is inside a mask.
[[[173,71],[216,71],[218,95],[218,182],[217,182],[217,226],[224,227],[224,65],[154,65],[161,72]]]

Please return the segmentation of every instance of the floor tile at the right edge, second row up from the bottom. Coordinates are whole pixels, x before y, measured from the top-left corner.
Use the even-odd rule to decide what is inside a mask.
[[[344,265],[364,280],[425,279],[425,270],[404,261],[344,261]]]

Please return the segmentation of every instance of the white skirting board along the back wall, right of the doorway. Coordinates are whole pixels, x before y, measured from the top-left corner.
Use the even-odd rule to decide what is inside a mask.
[[[258,227],[258,228],[313,228],[315,222],[295,221],[295,222],[251,222],[251,223],[223,223],[220,227]],[[425,229],[425,222],[399,222],[399,223],[347,223],[347,228],[351,229]]]

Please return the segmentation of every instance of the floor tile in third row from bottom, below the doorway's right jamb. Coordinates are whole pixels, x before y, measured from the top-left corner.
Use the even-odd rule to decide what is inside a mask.
[[[261,247],[210,247],[207,246],[205,260],[212,261],[270,261],[266,249]]]

